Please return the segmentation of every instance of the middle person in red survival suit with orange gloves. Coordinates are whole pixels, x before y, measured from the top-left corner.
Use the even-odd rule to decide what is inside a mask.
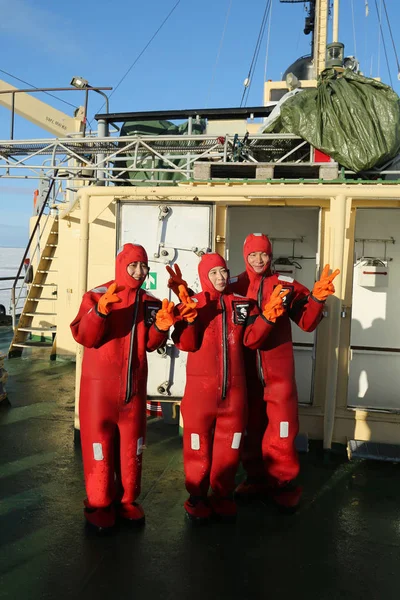
[[[256,303],[227,289],[228,270],[219,254],[203,255],[199,277],[203,291],[192,297],[180,277],[177,291],[189,310],[172,334],[175,345],[189,352],[181,403],[185,485],[190,494],[184,507],[195,520],[212,514],[234,519],[235,474],[247,417],[243,343],[262,343],[273,324],[265,317],[265,307],[264,315],[248,325],[259,315]]]

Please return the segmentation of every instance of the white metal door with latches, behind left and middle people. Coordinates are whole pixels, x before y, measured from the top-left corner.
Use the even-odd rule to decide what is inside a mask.
[[[167,288],[166,265],[178,263],[184,279],[200,291],[197,266],[201,253],[211,249],[212,206],[194,204],[121,203],[119,245],[141,244],[147,251],[150,273],[146,289],[162,300],[177,298]],[[147,393],[151,398],[181,398],[186,381],[186,352],[169,339],[165,348],[148,354]]]

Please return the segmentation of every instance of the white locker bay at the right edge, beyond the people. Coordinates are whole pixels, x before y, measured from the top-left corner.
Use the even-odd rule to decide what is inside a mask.
[[[400,410],[399,238],[399,209],[357,209],[350,407]]]

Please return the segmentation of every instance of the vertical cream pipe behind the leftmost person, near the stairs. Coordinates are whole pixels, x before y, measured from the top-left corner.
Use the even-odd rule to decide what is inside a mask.
[[[81,223],[79,235],[79,267],[78,267],[78,298],[87,291],[88,258],[89,258],[89,190],[79,191],[81,206]],[[82,373],[83,346],[78,344],[76,352],[75,371],[75,429],[79,425],[79,391]]]

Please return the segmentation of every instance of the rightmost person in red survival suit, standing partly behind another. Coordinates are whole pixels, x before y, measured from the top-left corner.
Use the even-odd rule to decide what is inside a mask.
[[[243,500],[268,494],[279,507],[291,511],[297,507],[302,490],[294,483],[299,473],[295,448],[298,402],[289,319],[304,331],[313,331],[321,320],[326,298],[335,291],[332,281],[339,271],[328,275],[326,265],[310,293],[297,281],[272,273],[272,246],[266,235],[249,235],[243,253],[246,271],[230,279],[230,289],[256,300],[260,308],[270,305],[275,312],[268,314],[274,325],[261,347],[257,352],[244,352],[249,411],[242,462],[247,479],[235,495]],[[177,286],[186,282],[178,268],[168,272],[168,286],[176,293]],[[278,285],[283,285],[279,294]]]

